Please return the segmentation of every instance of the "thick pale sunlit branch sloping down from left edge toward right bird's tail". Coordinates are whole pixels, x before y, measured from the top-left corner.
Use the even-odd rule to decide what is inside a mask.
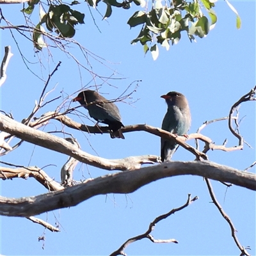
[[[0,114],[0,131],[8,132],[17,136],[21,140],[66,154],[67,156],[74,157],[82,163],[90,164],[104,170],[134,170],[140,168],[141,164],[159,162],[158,156],[150,155],[111,160],[92,156],[64,139],[48,134],[47,132],[38,131],[24,124],[20,124],[19,122],[2,114]]]

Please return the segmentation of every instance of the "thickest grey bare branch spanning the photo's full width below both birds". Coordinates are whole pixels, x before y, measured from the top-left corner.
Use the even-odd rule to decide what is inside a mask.
[[[71,143],[70,143],[71,145]],[[199,175],[256,191],[256,175],[210,161],[166,162],[134,171],[97,177],[62,191],[27,198],[0,197],[0,215],[29,217],[75,206],[88,198],[109,193],[132,193],[150,182],[177,175]]]

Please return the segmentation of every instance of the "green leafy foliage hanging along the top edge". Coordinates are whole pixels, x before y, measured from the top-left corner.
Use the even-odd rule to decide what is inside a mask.
[[[177,44],[181,38],[182,31],[185,31],[191,42],[195,41],[196,36],[204,38],[209,31],[214,28],[217,22],[217,15],[214,12],[216,0],[173,0],[168,4],[162,3],[161,0],[152,2],[151,8],[146,5],[145,0],[124,0],[118,3],[116,0],[102,0],[106,4],[106,13],[103,19],[107,19],[112,14],[112,8],[124,8],[128,10],[131,4],[141,6],[145,10],[138,10],[127,21],[131,28],[142,25],[139,35],[131,41],[131,44],[140,42],[143,45],[145,54],[150,51],[154,60],[158,57],[157,44],[170,49],[170,44]],[[241,27],[241,19],[232,4],[226,1],[228,6],[237,15],[237,28]],[[39,0],[33,0],[28,3],[28,7],[22,12],[31,15],[35,5],[40,3]],[[100,0],[86,0],[88,6],[97,8]],[[78,1],[73,1],[70,6],[79,4]],[[38,50],[45,47],[45,42],[42,39],[42,34],[45,34],[45,27],[52,33],[54,31],[62,38],[72,38],[77,24],[84,24],[84,13],[73,10],[67,4],[49,4],[49,9],[46,12],[40,5],[40,22],[35,26],[33,31],[33,42]],[[149,10],[149,11],[148,11]],[[150,44],[150,45],[149,45]]]

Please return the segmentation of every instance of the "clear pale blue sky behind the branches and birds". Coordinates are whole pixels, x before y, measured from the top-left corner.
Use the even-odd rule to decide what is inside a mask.
[[[150,53],[144,56],[140,44],[130,44],[140,31],[140,28],[130,30],[126,24],[135,11],[134,7],[131,10],[113,9],[108,21],[102,21],[100,15],[92,10],[100,33],[93,24],[87,6],[81,4],[79,8],[86,13],[85,24],[76,26],[75,39],[89,51],[107,60],[102,65],[89,57],[94,72],[101,76],[109,77],[113,74],[113,78],[122,78],[109,79],[107,82],[111,86],[99,78],[92,81],[92,76],[86,70],[79,69],[74,60],[58,49],[51,49],[52,56],[45,49],[40,52],[38,56],[44,64],[44,67],[40,67],[31,42],[25,41],[15,31],[13,33],[20,50],[32,63],[29,67],[39,76],[46,79],[48,73],[61,61],[47,90],[57,84],[56,89],[47,99],[60,95],[67,97],[72,93],[76,95],[77,90],[86,84],[102,84],[100,92],[109,93],[104,94],[108,99],[115,99],[133,81],[141,80],[136,92],[132,94],[131,100],[136,102],[117,103],[124,125],[148,124],[161,127],[166,104],[160,96],[175,90],[188,98],[192,115],[189,132],[196,132],[206,120],[227,116],[230,106],[255,85],[255,1],[232,1],[232,4],[242,19],[241,29],[236,29],[236,15],[227,3],[217,2],[215,10],[218,22],[206,38],[196,38],[197,42],[191,44],[183,33],[179,44],[171,46],[170,51],[159,46],[159,58],[156,61],[152,60]],[[4,17],[12,24],[23,24],[22,13],[19,12],[22,4],[2,5],[1,8]],[[32,19],[38,19],[37,15],[33,13]],[[10,32],[5,29],[0,33],[1,60],[6,45],[11,45],[14,54],[8,66],[8,78],[0,89],[0,106],[2,110],[12,112],[15,120],[21,121],[31,113],[44,83],[26,68]],[[81,51],[75,47],[67,50],[86,65]],[[48,104],[37,116],[55,110],[62,101],[60,99]],[[70,104],[78,106],[76,102]],[[82,111],[86,113],[85,109]],[[244,170],[255,161],[255,102],[242,104],[239,111],[239,117],[243,118],[240,132],[252,148],[244,145],[240,151],[213,151],[208,156],[216,163]],[[77,122],[93,125],[89,120],[81,121],[76,115],[69,116]],[[54,121],[45,128],[45,131],[55,130],[60,131],[61,126]],[[147,132],[125,133],[125,140],[111,140],[109,134],[86,134],[67,127],[65,132],[72,133],[84,151],[109,159],[160,154],[159,138]],[[202,133],[211,137],[216,144],[222,144],[227,138],[227,146],[237,145],[236,138],[228,130],[227,121],[211,124]],[[56,135],[62,136],[60,133]],[[195,145],[194,141],[188,143]],[[47,166],[44,171],[59,181],[61,166],[67,158],[24,142],[17,150],[2,157],[1,161],[40,168]],[[194,158],[179,148],[173,161],[192,161]],[[255,173],[255,167],[249,172]],[[83,180],[108,173],[86,164],[78,164],[74,178]],[[237,229],[240,243],[250,246],[252,250],[249,252],[255,255],[255,192],[237,186],[227,189],[220,182],[212,184],[218,200]],[[47,193],[34,179],[0,180],[0,186],[1,195],[15,198]],[[108,255],[128,238],[145,232],[156,216],[183,205],[188,193],[199,199],[175,216],[157,224],[152,232],[157,239],[174,238],[179,244],[153,244],[142,240],[129,245],[125,252],[128,255],[239,255],[227,222],[211,204],[202,177],[196,176],[157,180],[129,195],[96,196],[76,207],[38,216],[52,225],[57,221],[61,229],[59,233],[44,231],[43,227],[25,218],[0,217],[0,254]],[[43,242],[38,242],[38,237],[43,234],[44,250]]]

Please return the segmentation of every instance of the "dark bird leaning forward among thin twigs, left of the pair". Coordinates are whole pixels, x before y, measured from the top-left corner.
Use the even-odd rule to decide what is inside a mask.
[[[84,90],[72,100],[78,101],[84,108],[88,109],[89,115],[97,122],[108,124],[111,138],[122,138],[122,124],[119,109],[113,102],[109,102],[99,93],[93,90]]]

